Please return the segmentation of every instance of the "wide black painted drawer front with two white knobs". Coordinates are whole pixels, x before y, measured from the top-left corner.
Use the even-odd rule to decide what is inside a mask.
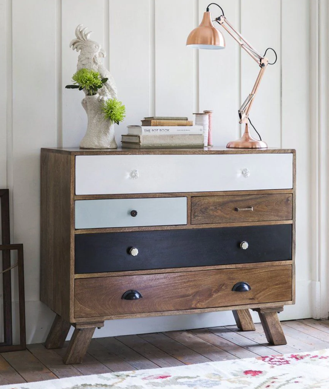
[[[291,250],[291,224],[77,234],[75,273],[285,261]]]

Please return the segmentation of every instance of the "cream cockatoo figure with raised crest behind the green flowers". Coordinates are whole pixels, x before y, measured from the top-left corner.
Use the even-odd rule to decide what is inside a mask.
[[[76,38],[70,42],[72,50],[80,51],[77,70],[83,68],[92,69],[98,72],[102,79],[108,79],[103,87],[98,89],[100,100],[117,98],[117,88],[115,86],[114,79],[110,72],[103,66],[101,59],[105,58],[106,52],[101,48],[100,44],[89,39],[92,31],[86,32],[86,30],[87,27],[82,28],[82,25],[77,26],[75,29]]]

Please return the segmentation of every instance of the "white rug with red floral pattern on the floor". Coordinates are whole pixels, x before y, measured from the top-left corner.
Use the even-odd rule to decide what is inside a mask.
[[[1,389],[328,389],[329,349],[189,366],[89,375]]]

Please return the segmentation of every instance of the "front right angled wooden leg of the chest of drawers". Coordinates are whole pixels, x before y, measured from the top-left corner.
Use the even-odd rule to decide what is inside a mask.
[[[278,318],[278,312],[281,312],[283,307],[257,308],[253,310],[259,314],[267,341],[273,345],[287,344]]]

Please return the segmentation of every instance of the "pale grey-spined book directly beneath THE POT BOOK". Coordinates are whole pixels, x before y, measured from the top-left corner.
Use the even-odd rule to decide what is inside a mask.
[[[121,135],[122,142],[138,143],[143,145],[152,144],[202,144],[203,134],[197,135]]]

